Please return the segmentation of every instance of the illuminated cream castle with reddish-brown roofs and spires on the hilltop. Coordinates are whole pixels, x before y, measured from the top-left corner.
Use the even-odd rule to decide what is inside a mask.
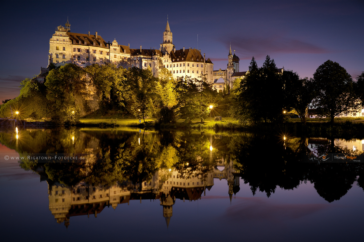
[[[106,42],[98,32],[95,34],[80,34],[71,32],[71,24],[66,22],[50,38],[48,65],[52,62],[56,66],[65,63],[74,63],[79,66],[114,63],[124,68],[137,67],[150,68],[155,77],[159,76],[162,68],[166,68],[173,78],[191,76],[198,78],[205,74],[206,81],[213,83],[214,87],[222,92],[224,88],[233,87],[233,80],[239,73],[239,57],[232,55],[231,46],[228,55],[229,61],[225,70],[214,70],[210,58],[206,60],[201,50],[183,47],[176,49],[173,44],[173,34],[167,20],[163,32],[163,42],[157,49],[131,49],[130,44],[119,45],[114,41]]]

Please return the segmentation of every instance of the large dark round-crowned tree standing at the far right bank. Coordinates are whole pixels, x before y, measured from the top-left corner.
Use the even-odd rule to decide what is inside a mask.
[[[339,63],[326,61],[316,69],[313,79],[317,91],[313,104],[321,117],[330,117],[331,124],[335,116],[359,110],[353,79]]]

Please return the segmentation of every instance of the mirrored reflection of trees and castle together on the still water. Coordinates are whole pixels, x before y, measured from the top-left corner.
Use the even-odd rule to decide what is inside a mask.
[[[48,182],[49,208],[66,226],[72,216],[96,217],[106,206],[146,199],[160,201],[169,226],[175,200],[201,199],[214,179],[227,180],[230,201],[240,178],[253,194],[268,197],[277,186],[294,189],[309,181],[328,202],[339,200],[356,180],[363,188],[363,164],[316,162],[317,153],[363,155],[345,146],[350,140],[98,128],[20,130],[15,139],[13,132],[2,130],[0,141],[20,156],[86,154],[85,162],[20,161]]]

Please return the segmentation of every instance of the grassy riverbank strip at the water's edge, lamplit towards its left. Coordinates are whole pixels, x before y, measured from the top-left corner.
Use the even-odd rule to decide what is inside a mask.
[[[240,132],[255,132],[255,133],[276,133],[293,136],[330,136],[330,137],[356,137],[364,139],[364,119],[355,120],[336,120],[332,126],[327,120],[317,119],[314,122],[307,122],[306,126],[301,122],[285,122],[280,124],[260,123],[255,125],[244,125],[232,118],[225,118],[224,121],[207,120],[201,123],[199,120],[193,120],[191,123],[186,123],[184,120],[178,120],[176,123],[161,124],[154,119],[141,120],[127,119],[80,119],[77,125],[80,127],[138,127],[138,128],[156,128],[156,129],[183,129],[183,130],[210,130],[219,131],[240,131]]]

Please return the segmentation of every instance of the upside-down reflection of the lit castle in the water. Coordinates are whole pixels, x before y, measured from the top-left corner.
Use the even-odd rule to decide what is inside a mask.
[[[167,227],[173,216],[173,205],[177,199],[196,201],[201,199],[206,189],[214,185],[214,179],[226,179],[227,193],[232,200],[233,194],[240,190],[240,177],[234,176],[232,161],[221,159],[213,172],[197,176],[182,176],[175,169],[159,169],[153,178],[139,184],[123,182],[113,185],[92,186],[79,182],[75,186],[64,186],[58,182],[48,184],[49,209],[58,223],[68,227],[70,217],[87,215],[97,217],[105,207],[116,209],[118,205],[128,204],[130,200],[159,200],[163,206],[163,217]],[[167,176],[166,176],[167,175]],[[167,179],[167,180],[165,180]]]

